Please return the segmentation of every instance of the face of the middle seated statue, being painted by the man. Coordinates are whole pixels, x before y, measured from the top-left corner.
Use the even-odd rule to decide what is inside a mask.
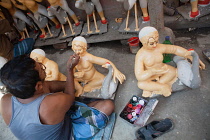
[[[86,52],[86,46],[85,43],[81,41],[73,41],[72,42],[72,50],[77,54],[81,55],[84,52]]]

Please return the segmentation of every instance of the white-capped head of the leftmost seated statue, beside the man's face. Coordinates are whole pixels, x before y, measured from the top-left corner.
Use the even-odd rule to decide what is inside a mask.
[[[45,52],[42,49],[34,49],[31,52],[30,57],[40,63],[42,63],[42,61],[46,58]]]

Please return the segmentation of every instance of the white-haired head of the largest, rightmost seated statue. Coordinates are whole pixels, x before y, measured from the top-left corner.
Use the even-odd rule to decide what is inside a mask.
[[[139,40],[141,41],[143,47],[147,47],[149,49],[156,48],[159,40],[157,29],[151,26],[142,28],[139,32]]]

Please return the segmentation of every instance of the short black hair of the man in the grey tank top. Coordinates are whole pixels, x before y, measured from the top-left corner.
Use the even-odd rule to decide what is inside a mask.
[[[35,66],[35,61],[29,56],[17,56],[1,68],[0,79],[15,97],[30,98],[34,95],[36,83],[41,81]]]

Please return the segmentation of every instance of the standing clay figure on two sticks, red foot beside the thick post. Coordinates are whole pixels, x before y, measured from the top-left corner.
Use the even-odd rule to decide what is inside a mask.
[[[135,31],[139,31],[139,27],[138,27],[138,10],[137,10],[137,4],[136,4],[136,0],[118,0],[118,1],[123,1],[124,2],[124,9],[126,11],[128,11],[127,13],[127,18],[126,18],[126,27],[125,30],[129,31],[130,29],[128,28],[128,22],[129,22],[129,15],[130,15],[130,10],[133,8],[134,6],[134,10],[135,10],[135,22],[136,22],[136,28]],[[139,0],[140,3],[140,7],[143,13],[143,21],[147,22],[150,20],[149,14],[148,14],[148,9],[147,9],[147,0]]]

